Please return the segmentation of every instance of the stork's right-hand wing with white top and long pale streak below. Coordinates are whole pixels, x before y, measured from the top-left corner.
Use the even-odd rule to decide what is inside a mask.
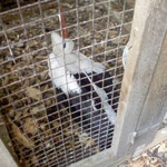
[[[80,61],[78,61],[80,59]],[[59,59],[60,61],[63,61],[63,58]],[[112,92],[112,80],[110,79],[110,75],[105,76],[108,77],[107,80],[104,81],[104,86],[99,86],[100,84],[95,84],[96,78],[92,77],[92,79],[88,76],[88,73],[96,72],[101,73],[101,77],[99,77],[99,80],[102,82],[102,72],[105,72],[105,67],[99,62],[94,62],[91,59],[87,58],[82,53],[77,55],[76,52],[66,55],[66,67],[71,73],[84,73],[86,78],[89,80],[89,84],[92,85],[94,89],[96,90],[97,95],[100,97],[100,100],[104,102],[105,110],[108,115],[109,120],[115,124],[116,121],[116,114],[112,110],[111,106],[109,105],[109,100],[111,99],[111,92]],[[105,72],[107,75],[107,72]],[[78,82],[79,84],[79,82]],[[90,91],[90,90],[89,90]]]

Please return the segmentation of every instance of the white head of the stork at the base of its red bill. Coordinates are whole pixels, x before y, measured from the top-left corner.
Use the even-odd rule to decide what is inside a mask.
[[[63,56],[63,53],[70,53],[73,50],[75,43],[69,38],[62,38],[58,33],[51,33],[52,52],[56,56]]]

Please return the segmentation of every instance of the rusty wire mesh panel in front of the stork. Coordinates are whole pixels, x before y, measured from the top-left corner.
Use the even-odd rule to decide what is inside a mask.
[[[115,126],[105,105],[117,112],[121,55],[129,39],[134,2],[7,0],[0,4],[0,108],[18,164],[69,166],[110,148]],[[76,61],[68,59],[62,40],[63,63],[55,69],[58,78],[51,72],[57,59],[50,56],[51,35],[62,37],[63,30],[75,45],[70,53],[77,57]],[[82,57],[88,58],[86,65],[94,60],[91,69],[82,69]],[[102,72],[95,71],[94,65]],[[71,90],[68,77],[80,94]]]

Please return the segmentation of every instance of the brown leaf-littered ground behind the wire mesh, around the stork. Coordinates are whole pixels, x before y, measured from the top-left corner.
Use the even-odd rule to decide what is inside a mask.
[[[60,158],[65,150],[75,148],[82,148],[84,153],[88,153],[89,148],[90,155],[98,153],[98,149],[91,149],[94,139],[82,136],[77,125],[71,128],[70,114],[63,106],[52,122],[47,120],[46,110],[56,105],[57,96],[48,76],[47,61],[51,52],[50,32],[60,33],[58,3],[55,0],[46,0],[40,4],[32,0],[20,2],[21,10],[16,10],[13,0],[0,3],[3,12],[0,22],[0,106],[11,139],[9,147],[14,150],[16,159],[22,166],[33,166],[37,161],[45,164],[46,153],[50,151],[52,143],[57,144]],[[92,1],[81,0],[78,16],[76,1],[61,2],[67,30],[76,49],[104,63],[115,76],[116,87],[120,90],[124,73],[121,53],[129,39],[134,11],[127,11],[121,22],[122,3],[111,1],[110,10],[115,14],[110,14],[108,22],[108,2],[96,0],[92,14]],[[127,6],[125,10],[130,8]],[[55,155],[49,158],[53,159]]]

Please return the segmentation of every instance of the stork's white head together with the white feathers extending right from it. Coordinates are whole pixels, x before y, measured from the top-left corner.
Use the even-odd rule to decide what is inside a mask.
[[[58,61],[61,66],[67,66],[67,69],[71,73],[76,73],[79,71],[91,72],[95,71],[97,73],[105,71],[105,66],[99,62],[95,62],[85,55],[73,51],[73,42],[71,39],[65,39],[56,33],[51,33],[52,41],[52,51],[55,56],[58,58]],[[66,48],[62,50],[62,45],[66,42]],[[80,69],[80,70],[79,70]]]

